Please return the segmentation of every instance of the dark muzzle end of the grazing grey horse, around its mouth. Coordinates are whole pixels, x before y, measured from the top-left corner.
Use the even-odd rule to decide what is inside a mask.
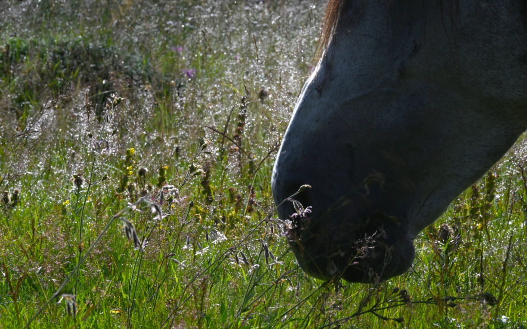
[[[302,270],[321,280],[374,283],[404,273],[413,262],[412,241],[394,240],[384,230],[350,238],[357,235],[349,227],[328,230],[308,216],[293,219],[288,243]]]

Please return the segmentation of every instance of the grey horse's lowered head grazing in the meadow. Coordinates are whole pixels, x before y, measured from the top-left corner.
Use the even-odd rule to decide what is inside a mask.
[[[527,1],[331,0],[321,31],[272,194],[304,272],[384,281],[527,128]]]

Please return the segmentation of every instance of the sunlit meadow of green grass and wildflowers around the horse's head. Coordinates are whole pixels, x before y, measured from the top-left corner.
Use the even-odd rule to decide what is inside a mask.
[[[525,327],[523,139],[411,271],[298,268],[270,176],[323,9],[0,3],[0,327]]]

